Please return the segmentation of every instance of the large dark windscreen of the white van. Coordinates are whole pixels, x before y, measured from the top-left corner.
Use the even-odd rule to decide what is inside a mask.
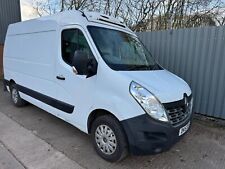
[[[103,60],[113,70],[162,69],[135,36],[96,26],[88,26]]]

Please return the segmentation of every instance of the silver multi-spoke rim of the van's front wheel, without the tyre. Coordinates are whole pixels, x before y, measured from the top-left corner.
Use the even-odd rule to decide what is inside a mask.
[[[116,151],[117,140],[113,130],[107,125],[99,125],[95,130],[95,141],[104,154],[111,155]]]

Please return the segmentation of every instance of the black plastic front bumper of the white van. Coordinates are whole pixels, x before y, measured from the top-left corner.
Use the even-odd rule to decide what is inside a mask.
[[[122,121],[129,150],[133,155],[156,154],[180,140],[179,129],[192,121],[192,114],[179,126],[156,121],[147,114]]]

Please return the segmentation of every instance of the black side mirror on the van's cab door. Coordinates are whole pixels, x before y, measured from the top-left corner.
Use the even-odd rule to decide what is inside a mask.
[[[79,75],[87,75],[88,77],[97,74],[97,61],[95,58],[88,58],[86,52],[76,51],[73,56],[72,66],[77,70]]]

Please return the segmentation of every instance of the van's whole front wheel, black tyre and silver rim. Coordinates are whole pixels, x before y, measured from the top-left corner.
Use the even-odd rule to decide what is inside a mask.
[[[124,131],[112,116],[100,116],[93,122],[91,138],[96,152],[107,161],[120,161],[128,154]]]

